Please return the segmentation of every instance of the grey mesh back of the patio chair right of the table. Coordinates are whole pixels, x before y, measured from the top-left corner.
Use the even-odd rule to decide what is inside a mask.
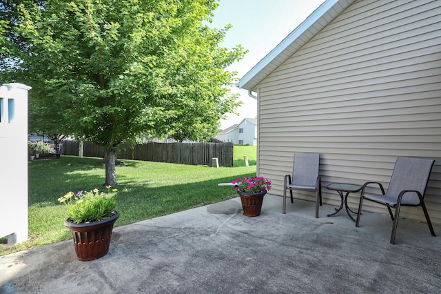
[[[398,157],[386,195],[398,197],[402,190],[417,190],[424,197],[434,162],[432,159]],[[419,205],[420,199],[416,193],[406,193],[402,204]]]

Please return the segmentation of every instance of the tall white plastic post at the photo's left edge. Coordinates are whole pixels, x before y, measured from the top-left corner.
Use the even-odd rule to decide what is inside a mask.
[[[28,239],[28,90],[0,87],[0,237]]]

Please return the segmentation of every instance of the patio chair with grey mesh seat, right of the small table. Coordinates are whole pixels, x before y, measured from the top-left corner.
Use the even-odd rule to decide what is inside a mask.
[[[387,193],[384,193],[382,184],[378,182],[365,183],[362,186],[362,192],[360,195],[356,226],[358,227],[360,224],[363,200],[367,199],[387,206],[389,215],[391,215],[391,219],[393,220],[391,244],[395,244],[395,235],[401,206],[421,206],[429,230],[432,236],[435,236],[429,214],[427,213],[427,208],[424,204],[424,193],[426,192],[427,182],[429,182],[429,176],[434,162],[435,161],[432,159],[398,157],[395,167],[393,168]],[[370,184],[377,184],[380,186],[382,195],[365,193],[365,189]],[[395,208],[395,215],[393,215],[391,208]]]

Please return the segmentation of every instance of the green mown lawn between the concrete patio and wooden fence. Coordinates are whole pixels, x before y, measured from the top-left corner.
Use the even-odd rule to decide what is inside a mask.
[[[249,166],[245,166],[247,155]],[[219,187],[240,175],[256,173],[256,146],[234,146],[234,167],[212,168],[152,161],[121,160],[116,166],[119,185],[115,226],[176,213],[236,197],[234,189]],[[0,238],[0,255],[60,242],[72,238],[65,228],[66,207],[57,199],[69,191],[92,190],[105,182],[103,159],[61,157],[28,163],[29,239],[7,245]]]

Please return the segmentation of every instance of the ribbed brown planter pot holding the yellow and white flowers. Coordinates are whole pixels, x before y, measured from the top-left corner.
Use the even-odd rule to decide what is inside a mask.
[[[70,218],[66,219],[64,225],[72,231],[75,253],[79,260],[86,262],[98,259],[109,252],[113,224],[118,217],[119,213],[114,211],[112,217],[100,222],[74,224]]]

